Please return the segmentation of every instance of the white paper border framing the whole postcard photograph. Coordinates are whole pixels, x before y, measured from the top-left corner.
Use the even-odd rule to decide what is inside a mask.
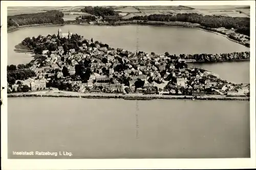
[[[7,159],[7,89],[1,90],[3,169],[219,169],[255,168],[255,1],[1,1],[1,89],[7,86],[7,6],[250,5],[250,148],[243,159]],[[231,70],[230,70],[231,71]]]

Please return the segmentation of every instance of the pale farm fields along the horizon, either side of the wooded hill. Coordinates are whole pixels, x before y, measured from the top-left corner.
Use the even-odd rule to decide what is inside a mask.
[[[18,15],[45,12],[47,10],[59,10],[65,12],[65,20],[73,20],[76,16],[86,15],[86,13],[80,12],[82,8],[84,7],[8,7],[7,14]],[[144,16],[151,14],[176,15],[179,13],[198,13],[202,15],[222,15],[230,17],[250,17],[250,9],[248,6],[115,6],[113,8],[115,9],[115,11],[120,12],[120,15],[122,15],[123,18],[129,18],[129,16]]]

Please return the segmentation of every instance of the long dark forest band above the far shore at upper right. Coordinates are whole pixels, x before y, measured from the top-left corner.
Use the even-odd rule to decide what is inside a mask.
[[[163,15],[153,14],[148,16],[134,16],[129,20],[144,20],[144,21],[182,21],[199,23],[206,28],[220,28],[237,29],[236,32],[250,36],[250,18],[246,17],[228,17],[228,16],[216,16],[206,15],[203,16],[197,13],[185,13],[177,15]]]

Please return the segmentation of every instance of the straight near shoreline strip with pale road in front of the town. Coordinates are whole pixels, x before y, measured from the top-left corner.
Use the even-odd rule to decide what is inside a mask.
[[[221,95],[160,95],[160,94],[113,94],[113,93],[79,93],[79,92],[49,92],[49,93],[16,93],[7,94],[7,98],[23,97],[51,97],[51,98],[86,98],[86,99],[123,99],[123,100],[225,100],[250,101],[247,96],[221,96]]]

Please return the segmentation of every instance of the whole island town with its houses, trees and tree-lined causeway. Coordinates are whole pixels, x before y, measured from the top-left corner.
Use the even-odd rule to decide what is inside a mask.
[[[34,59],[8,66],[8,93],[58,88],[83,93],[250,95],[249,84],[227,82],[186,64],[244,60],[250,58],[249,52],[180,56],[128,52],[60,29],[57,36],[27,37],[19,46],[33,50]]]

